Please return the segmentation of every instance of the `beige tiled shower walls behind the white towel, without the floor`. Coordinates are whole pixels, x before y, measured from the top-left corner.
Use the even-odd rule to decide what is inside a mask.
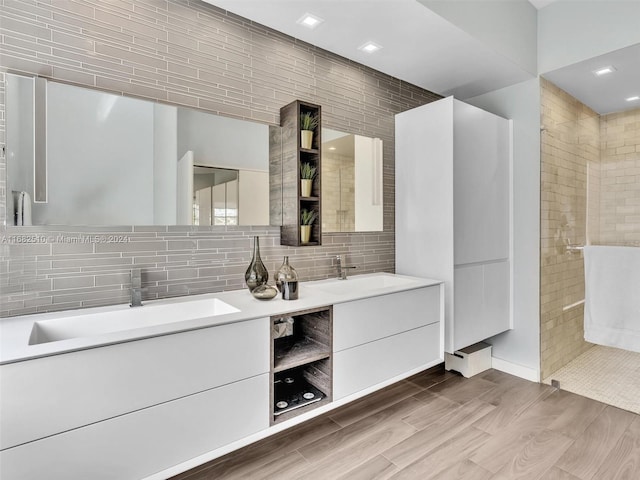
[[[640,110],[598,116],[542,81],[541,370],[584,341],[584,263],[569,244],[640,246]],[[572,306],[574,305],[574,306]]]

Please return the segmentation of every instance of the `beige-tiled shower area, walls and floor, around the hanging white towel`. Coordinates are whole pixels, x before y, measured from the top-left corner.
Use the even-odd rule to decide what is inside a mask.
[[[541,88],[541,378],[640,413],[640,353],[584,340],[583,248],[640,247],[640,109],[599,115]]]

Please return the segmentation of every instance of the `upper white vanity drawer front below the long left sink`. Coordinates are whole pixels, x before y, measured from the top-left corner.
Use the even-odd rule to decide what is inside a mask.
[[[268,371],[268,318],[3,365],[0,447]]]

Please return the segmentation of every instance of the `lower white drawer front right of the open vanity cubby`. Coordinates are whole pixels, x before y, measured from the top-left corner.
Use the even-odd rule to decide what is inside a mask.
[[[441,361],[440,323],[342,350],[333,356],[333,399]]]

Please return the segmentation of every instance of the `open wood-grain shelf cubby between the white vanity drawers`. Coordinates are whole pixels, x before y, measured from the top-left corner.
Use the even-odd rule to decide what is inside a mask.
[[[332,399],[332,307],[271,317],[271,424]]]

